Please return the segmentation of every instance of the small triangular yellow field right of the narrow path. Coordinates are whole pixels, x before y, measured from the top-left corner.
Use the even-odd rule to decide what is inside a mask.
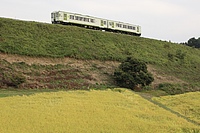
[[[153,100],[200,124],[200,92],[156,97]]]

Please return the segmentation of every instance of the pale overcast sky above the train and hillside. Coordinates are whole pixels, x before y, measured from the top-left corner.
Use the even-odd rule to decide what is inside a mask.
[[[0,0],[0,17],[50,23],[58,10],[140,25],[146,38],[200,37],[200,0]]]

